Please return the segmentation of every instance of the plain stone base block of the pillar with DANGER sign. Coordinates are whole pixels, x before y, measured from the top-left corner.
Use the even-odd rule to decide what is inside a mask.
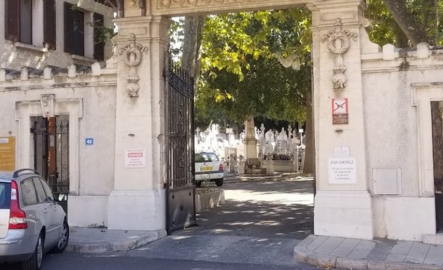
[[[108,229],[166,229],[166,191],[113,191],[108,201]]]

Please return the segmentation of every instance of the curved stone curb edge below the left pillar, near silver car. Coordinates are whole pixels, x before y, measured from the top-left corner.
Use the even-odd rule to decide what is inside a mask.
[[[125,240],[100,241],[94,243],[86,242],[68,242],[65,252],[71,253],[101,253],[128,251],[140,248],[143,245],[151,243],[167,236],[165,230],[144,231],[139,236],[131,236]]]

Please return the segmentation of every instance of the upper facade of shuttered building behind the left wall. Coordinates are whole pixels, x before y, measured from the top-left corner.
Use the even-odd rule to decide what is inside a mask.
[[[96,1],[5,0],[0,14],[1,68],[91,66],[110,58],[110,42],[101,42],[105,27],[113,29],[110,6]]]

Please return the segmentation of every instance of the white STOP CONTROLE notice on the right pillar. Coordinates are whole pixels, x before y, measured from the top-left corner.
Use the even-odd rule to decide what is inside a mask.
[[[357,184],[357,162],[354,158],[330,158],[329,184]]]

